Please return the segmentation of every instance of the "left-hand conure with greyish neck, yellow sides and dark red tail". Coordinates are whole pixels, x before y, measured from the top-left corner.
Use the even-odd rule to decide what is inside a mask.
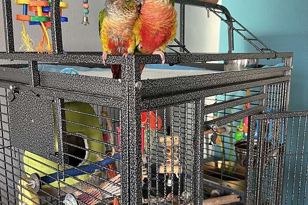
[[[99,15],[99,32],[103,46],[103,63],[107,55],[133,54],[136,37],[132,29],[139,15],[139,2],[135,0],[107,0]],[[121,78],[121,65],[111,65],[112,77]]]

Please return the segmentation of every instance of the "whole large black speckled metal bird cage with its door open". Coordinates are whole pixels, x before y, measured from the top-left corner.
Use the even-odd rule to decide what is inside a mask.
[[[15,52],[11,1],[3,0],[0,59],[28,64],[0,66],[1,204],[213,204],[213,193],[237,204],[305,200],[305,189],[294,188],[307,178],[298,168],[306,163],[298,137],[306,120],[295,130],[288,118],[304,113],[285,113],[292,53],[267,47],[223,6],[178,0],[180,40],[168,47],[166,63],[212,73],[142,78],[140,65],[159,64],[156,55],[109,56],[108,64],[122,65],[119,80],[42,71],[46,64],[105,68],[101,53],[63,54],[59,2],[50,8],[53,54],[37,54]],[[188,51],[185,5],[228,25],[228,53]],[[260,53],[232,53],[234,31]],[[222,72],[223,64],[206,63],[234,59],[283,65]],[[245,117],[248,146],[237,153],[234,136]]]

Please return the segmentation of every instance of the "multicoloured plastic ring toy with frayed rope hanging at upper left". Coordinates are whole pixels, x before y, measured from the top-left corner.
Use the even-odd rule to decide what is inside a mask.
[[[17,14],[16,20],[22,20],[23,31],[22,45],[20,49],[24,49],[27,52],[33,52],[33,40],[26,33],[25,22],[29,22],[29,25],[39,25],[43,31],[43,38],[38,43],[36,48],[38,53],[44,53],[44,43],[47,43],[46,50],[48,53],[52,53],[52,47],[48,37],[47,30],[51,27],[50,23],[50,1],[51,0],[15,0],[15,4],[23,6],[23,14]],[[60,16],[61,22],[67,22],[67,17],[62,16],[62,9],[68,8],[68,4],[60,0]],[[28,15],[28,12],[34,12],[35,15]]]

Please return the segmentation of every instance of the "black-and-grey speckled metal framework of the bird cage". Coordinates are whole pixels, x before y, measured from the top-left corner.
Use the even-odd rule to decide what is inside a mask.
[[[25,171],[23,170],[24,162],[23,156],[25,155],[25,150],[35,151],[35,145],[40,144],[40,147],[48,146],[49,144],[44,144],[40,140],[33,141],[33,146],[27,148],[27,145],[12,145],[12,139],[10,132],[10,125],[14,122],[10,121],[10,110],[11,102],[21,93],[32,93],[35,97],[46,97],[49,101],[49,105],[54,106],[55,110],[55,124],[58,139],[58,150],[54,155],[47,157],[49,160],[56,163],[56,177],[55,181],[59,182],[57,186],[60,187],[60,176],[63,171],[59,169],[60,166],[67,164],[67,147],[69,143],[66,141],[68,131],[66,130],[66,122],[68,119],[65,117],[67,109],[65,108],[65,101],[78,101],[82,103],[87,103],[98,107],[108,107],[113,110],[118,110],[117,117],[109,117],[109,120],[117,121],[117,125],[120,127],[120,132],[113,126],[112,129],[105,129],[104,131],[111,132],[114,135],[121,135],[121,144],[108,144],[110,147],[116,149],[121,149],[121,159],[119,161],[119,170],[113,170],[114,173],[121,174],[121,194],[118,197],[121,200],[121,204],[141,204],[143,202],[148,204],[166,204],[167,190],[167,173],[166,173],[166,140],[168,134],[171,135],[171,139],[174,139],[175,134],[179,134],[180,144],[184,145],[182,151],[179,155],[179,166],[184,167],[183,172],[180,174],[184,177],[184,182],[182,183],[182,191],[185,192],[184,203],[185,204],[202,204],[203,200],[203,186],[213,186],[226,189],[233,193],[238,193],[242,198],[241,202],[246,201],[247,195],[243,192],[236,192],[235,190],[229,189],[217,183],[211,181],[204,181],[203,179],[203,154],[204,154],[204,136],[203,132],[210,129],[212,124],[217,124],[218,126],[227,124],[232,121],[236,121],[244,116],[253,115],[265,112],[267,110],[267,100],[271,101],[273,98],[269,97],[269,88],[276,85],[283,84],[279,88],[283,90],[284,97],[279,100],[278,112],[286,111],[288,108],[288,96],[290,92],[290,80],[291,80],[291,70],[292,70],[292,58],[293,53],[277,53],[269,49],[261,40],[254,36],[251,32],[240,25],[230,14],[227,9],[223,6],[203,3],[193,0],[179,0],[176,1],[180,6],[180,49],[184,50],[186,53],[171,53],[166,54],[166,63],[169,65],[181,64],[190,65],[195,67],[207,68],[210,67],[206,64],[207,61],[215,60],[228,60],[228,59],[271,59],[271,58],[281,58],[281,62],[284,63],[284,67],[279,68],[259,68],[251,70],[243,70],[236,72],[220,72],[213,74],[195,75],[195,76],[181,76],[181,77],[171,77],[163,79],[141,79],[140,65],[141,64],[159,64],[160,58],[156,55],[129,55],[126,59],[121,56],[108,56],[108,64],[121,64],[122,65],[122,79],[115,80],[105,77],[94,77],[94,76],[83,76],[83,75],[71,75],[63,73],[52,73],[38,70],[38,61],[45,61],[50,64],[56,63],[58,65],[93,65],[103,68],[101,53],[91,53],[91,52],[71,52],[63,54],[62,48],[62,33],[61,33],[61,23],[60,20],[60,9],[59,0],[51,1],[51,22],[52,22],[52,45],[53,54],[37,54],[37,53],[21,53],[15,52],[14,50],[14,39],[13,39],[13,26],[12,26],[12,11],[11,11],[11,1],[3,0],[3,10],[4,10],[4,31],[6,37],[6,52],[0,52],[0,59],[7,60],[27,60],[28,65],[2,65],[0,66],[0,99],[1,99],[1,127],[0,127],[0,163],[2,169],[0,171],[0,201],[3,204],[18,204],[21,202],[20,191],[18,191],[18,182],[23,180],[25,177]],[[209,11],[220,16],[224,14],[226,19],[222,20],[228,25],[228,46],[229,53],[223,54],[205,54],[205,53],[189,53],[184,46],[184,17],[185,17],[185,5],[205,7]],[[240,29],[235,28],[233,24],[238,24]],[[244,37],[244,39],[254,46],[260,53],[231,53],[233,50],[233,32],[236,31],[241,36],[243,36],[242,31],[246,31],[252,35],[251,38]],[[261,47],[256,45],[256,42],[260,43]],[[172,48],[172,47],[170,47]],[[221,69],[222,65],[218,65]],[[29,67],[28,70],[20,69],[23,67]],[[243,89],[260,87],[260,93],[252,96],[242,96],[234,100],[223,101],[220,104],[205,105],[205,98],[214,95],[226,94],[229,92],[239,91]],[[272,92],[273,93],[273,92]],[[31,98],[31,97],[30,97]],[[247,102],[252,102],[255,100],[260,100],[260,104],[252,109],[247,109],[239,111],[234,114],[226,115],[218,119],[205,120],[205,115],[210,112],[218,112],[230,107],[235,107],[237,105],[242,105]],[[275,99],[274,99],[275,101]],[[25,101],[22,101],[25,102]],[[22,103],[21,105],[22,106]],[[163,110],[163,118],[166,118],[166,110],[171,112],[171,124],[175,121],[181,121],[177,126],[171,126],[171,130],[167,131],[167,126],[163,126],[162,133],[160,137],[163,138],[163,147],[157,145],[158,138],[152,141],[154,142],[154,150],[151,149],[150,143],[148,143],[149,150],[147,153],[147,161],[153,162],[158,169],[157,163],[163,162],[165,167],[163,173],[163,184],[164,190],[162,193],[163,200],[158,198],[156,194],[156,199],[154,201],[147,200],[144,201],[143,198],[143,188],[141,183],[142,174],[142,142],[141,142],[141,113],[148,111]],[[29,110],[33,116],[41,115],[42,110]],[[78,111],[77,111],[78,112]],[[188,114],[189,112],[189,114]],[[177,114],[178,113],[178,114]],[[45,113],[46,114],[46,113]],[[81,113],[89,115],[90,113]],[[103,118],[103,116],[98,113],[90,114],[98,118]],[[147,117],[149,117],[147,115]],[[105,117],[106,118],[106,117]],[[189,121],[190,120],[190,121]],[[32,121],[32,120],[31,120]],[[164,120],[165,122],[165,120]],[[79,123],[79,122],[78,122]],[[45,126],[50,125],[50,120],[45,122]],[[74,124],[74,122],[72,122]],[[80,123],[79,123],[80,124]],[[188,128],[189,124],[189,128]],[[40,125],[38,125],[40,126]],[[87,125],[80,125],[85,126]],[[97,130],[97,128],[92,127],[91,129]],[[101,129],[101,128],[100,128]],[[178,131],[177,131],[178,129]],[[183,133],[181,130],[184,130]],[[188,131],[189,137],[188,138]],[[33,130],[32,130],[33,131]],[[20,132],[23,130],[21,128]],[[168,134],[167,134],[168,132]],[[15,132],[16,133],[16,132]],[[29,131],[28,131],[29,133]],[[34,135],[39,136],[37,130],[34,129]],[[77,134],[78,135],[78,134]],[[85,136],[77,136],[85,138]],[[149,137],[145,136],[146,138]],[[46,139],[48,139],[46,137]],[[189,141],[189,142],[188,142]],[[101,142],[99,142],[101,143]],[[173,145],[172,145],[173,144]],[[171,163],[174,163],[174,149],[175,144],[171,143]],[[181,145],[180,145],[181,146]],[[47,150],[50,151],[50,147]],[[86,150],[86,149],[83,149]],[[181,149],[180,149],[181,150]],[[93,150],[88,149],[88,152],[93,152]],[[161,154],[160,154],[161,153]],[[42,154],[42,151],[38,151],[36,154]],[[104,156],[104,153],[96,153]],[[151,156],[151,157],[150,157]],[[108,158],[108,156],[105,156]],[[189,157],[189,159],[188,159]],[[173,160],[172,160],[173,158]],[[115,160],[115,159],[114,159]],[[249,158],[250,160],[250,158]],[[188,161],[188,162],[187,162]],[[93,162],[90,162],[93,163]],[[190,164],[189,164],[190,163]],[[150,164],[150,163],[148,163]],[[182,165],[183,164],[183,165]],[[172,166],[174,168],[174,166]],[[155,172],[152,172],[150,167],[147,168],[148,178]],[[188,172],[189,170],[189,172]],[[37,170],[38,172],[39,170]],[[111,170],[112,171],[112,170]],[[247,175],[248,174],[248,175]],[[252,189],[250,186],[251,179],[249,176],[249,171],[246,174],[246,181],[248,186],[246,187],[245,193],[249,193]],[[48,175],[48,174],[47,174]],[[154,174],[158,178],[158,172]],[[63,176],[63,175],[62,175]],[[60,178],[59,178],[60,177]],[[103,177],[98,177],[102,180]],[[168,178],[169,179],[169,178]],[[174,192],[174,176],[171,179],[171,192]],[[24,180],[25,181],[25,180]],[[105,179],[106,181],[106,179]],[[61,182],[65,183],[65,182]],[[178,182],[180,183],[180,182]],[[91,182],[86,182],[90,187],[93,187]],[[148,187],[151,183],[148,183]],[[52,187],[52,189],[57,192],[55,195],[50,195],[45,193],[44,197],[40,197],[41,204],[62,204],[64,201],[63,190],[59,187]],[[72,189],[75,191],[80,191],[78,188]],[[158,186],[153,187],[153,189],[148,189],[148,197],[151,195],[151,190],[159,189]],[[41,190],[44,192],[44,190]],[[188,195],[189,192],[189,199]],[[178,192],[179,194],[179,192]],[[172,194],[171,197],[175,197],[176,194]],[[93,196],[90,196],[93,198]],[[145,198],[145,197],[144,197]],[[248,200],[252,200],[247,197]],[[99,200],[94,197],[94,200]],[[172,200],[171,200],[172,201]],[[99,201],[102,204],[106,203],[104,201]],[[79,200],[80,204],[83,203]],[[171,202],[175,204],[174,202]]]

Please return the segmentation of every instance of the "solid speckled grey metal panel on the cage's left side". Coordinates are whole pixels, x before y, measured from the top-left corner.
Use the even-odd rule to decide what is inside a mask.
[[[57,161],[52,100],[18,91],[9,103],[11,143],[16,148]]]

